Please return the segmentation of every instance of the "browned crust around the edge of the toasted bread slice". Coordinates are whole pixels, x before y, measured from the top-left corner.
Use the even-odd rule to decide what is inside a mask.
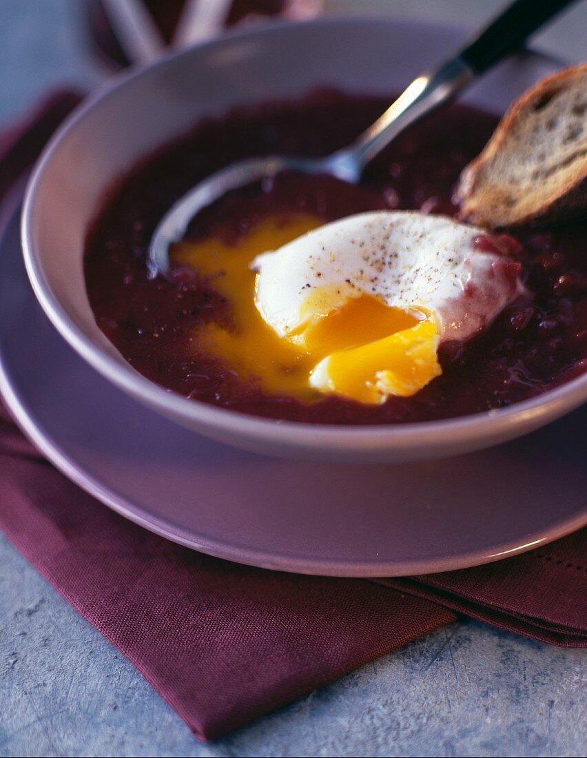
[[[532,110],[538,110],[551,95],[560,92],[567,83],[585,77],[587,99],[587,64],[570,67],[540,81],[514,102],[504,115],[489,143],[480,155],[464,168],[457,188],[461,204],[459,218],[490,228],[517,227],[526,224],[546,224],[580,215],[587,209],[587,153],[582,151],[564,174],[556,193],[545,193],[530,208],[517,211],[511,208],[511,195],[504,185],[487,180],[495,157],[511,137],[520,121]],[[538,106],[538,108],[536,107]],[[587,112],[585,112],[587,120]],[[587,128],[587,124],[585,124]],[[508,206],[509,202],[509,206]]]

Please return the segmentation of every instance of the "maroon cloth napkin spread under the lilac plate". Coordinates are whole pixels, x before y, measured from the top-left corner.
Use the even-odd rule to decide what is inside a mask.
[[[0,202],[78,97],[0,136]],[[261,716],[453,621],[587,646],[587,530],[492,565],[414,578],[320,578],[194,553],[93,500],[0,405],[0,528],[200,738]]]

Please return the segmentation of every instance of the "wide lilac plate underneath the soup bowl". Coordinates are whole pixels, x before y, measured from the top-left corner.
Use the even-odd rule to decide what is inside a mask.
[[[17,214],[0,237],[0,389],[65,475],[214,556],[339,576],[489,562],[587,523],[587,411],[482,453],[397,465],[294,462],[199,437],[67,345],[33,295]]]

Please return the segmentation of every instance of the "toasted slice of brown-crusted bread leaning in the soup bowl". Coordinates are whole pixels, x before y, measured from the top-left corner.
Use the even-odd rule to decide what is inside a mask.
[[[587,209],[587,64],[526,92],[461,174],[460,218],[491,228],[560,221]]]

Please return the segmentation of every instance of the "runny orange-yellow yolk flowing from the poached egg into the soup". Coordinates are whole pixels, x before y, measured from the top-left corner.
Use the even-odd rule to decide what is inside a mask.
[[[366,294],[329,311],[318,305],[327,293],[316,288],[304,300],[300,325],[287,337],[279,337],[258,312],[251,261],[322,223],[309,215],[272,217],[236,245],[214,237],[174,246],[173,262],[195,268],[231,306],[233,325],[202,324],[196,343],[244,381],[260,381],[268,392],[307,402],[337,393],[377,404],[389,395],[416,393],[441,373],[439,333],[426,312],[407,313]]]

